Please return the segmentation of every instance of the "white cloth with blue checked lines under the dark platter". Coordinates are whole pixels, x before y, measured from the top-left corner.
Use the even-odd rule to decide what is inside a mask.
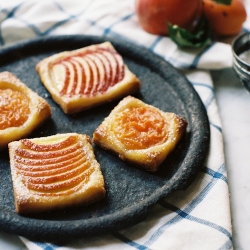
[[[148,34],[138,24],[134,0],[2,1],[0,21],[2,46],[39,36],[88,34],[148,48],[187,76],[206,107],[211,130],[209,155],[194,182],[159,201],[143,222],[63,246],[20,237],[28,249],[233,248],[222,128],[209,71],[232,66],[230,45],[184,50],[168,37]]]

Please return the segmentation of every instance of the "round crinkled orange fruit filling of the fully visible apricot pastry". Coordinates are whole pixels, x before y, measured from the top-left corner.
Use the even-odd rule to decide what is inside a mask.
[[[164,143],[168,124],[162,115],[148,107],[127,108],[118,113],[112,131],[127,149],[146,149]]]

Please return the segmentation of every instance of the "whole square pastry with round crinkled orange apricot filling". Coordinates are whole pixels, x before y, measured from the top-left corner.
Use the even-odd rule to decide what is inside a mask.
[[[93,142],[121,160],[155,172],[186,131],[187,122],[132,96],[125,97],[93,134]]]

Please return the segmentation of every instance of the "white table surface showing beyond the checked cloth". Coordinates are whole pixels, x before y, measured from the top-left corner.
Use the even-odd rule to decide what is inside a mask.
[[[250,249],[250,94],[232,69],[212,72],[222,120],[231,198],[233,243]],[[0,232],[0,249],[26,249],[16,235]]]

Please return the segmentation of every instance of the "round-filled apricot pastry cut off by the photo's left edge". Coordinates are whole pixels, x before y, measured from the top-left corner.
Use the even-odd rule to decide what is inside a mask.
[[[0,73],[0,150],[51,117],[50,105],[10,72]]]

